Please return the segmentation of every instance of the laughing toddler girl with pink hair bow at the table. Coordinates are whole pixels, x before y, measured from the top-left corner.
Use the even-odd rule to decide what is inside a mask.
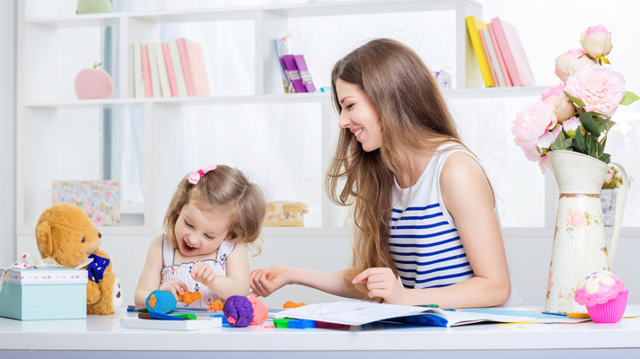
[[[247,243],[265,216],[259,188],[234,168],[207,165],[180,181],[164,217],[164,234],[151,242],[136,288],[136,305],[156,289],[199,292],[190,305],[249,293]],[[179,302],[179,305],[182,303]]]

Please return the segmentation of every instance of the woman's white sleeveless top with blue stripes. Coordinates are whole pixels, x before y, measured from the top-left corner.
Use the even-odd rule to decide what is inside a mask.
[[[443,146],[439,150],[452,144]],[[443,205],[440,193],[440,171],[443,163],[449,154],[457,151],[469,153],[461,147],[436,152],[416,184],[411,187],[411,197],[408,200],[408,188],[399,188],[396,182],[390,251],[400,280],[406,288],[453,285],[474,276],[458,230]],[[469,155],[476,159],[473,154]]]

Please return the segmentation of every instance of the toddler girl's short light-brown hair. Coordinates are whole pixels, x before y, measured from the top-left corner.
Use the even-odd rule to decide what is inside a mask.
[[[178,248],[175,228],[180,210],[191,200],[200,210],[215,209],[228,214],[227,228],[232,241],[251,243],[259,238],[267,208],[262,191],[238,169],[218,165],[202,175],[196,185],[188,181],[188,176],[178,184],[163,223],[173,249]]]

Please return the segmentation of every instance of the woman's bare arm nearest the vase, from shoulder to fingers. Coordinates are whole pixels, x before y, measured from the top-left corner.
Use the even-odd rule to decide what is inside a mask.
[[[489,307],[507,301],[511,282],[494,193],[482,167],[467,153],[452,153],[443,164],[440,188],[474,277],[440,288],[407,289],[390,268],[369,268],[355,276],[370,297],[392,304],[438,304],[443,308]]]

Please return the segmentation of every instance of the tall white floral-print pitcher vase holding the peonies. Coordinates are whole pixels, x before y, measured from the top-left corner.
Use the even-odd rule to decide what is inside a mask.
[[[590,273],[610,269],[622,211],[616,221],[609,256],[600,198],[608,165],[586,154],[571,151],[550,151],[548,158],[560,197],[557,203],[545,311],[586,312],[583,305],[574,301],[576,286]],[[623,180],[627,183],[624,173]],[[624,193],[623,197],[626,195]],[[624,203],[621,209],[623,208]]]

